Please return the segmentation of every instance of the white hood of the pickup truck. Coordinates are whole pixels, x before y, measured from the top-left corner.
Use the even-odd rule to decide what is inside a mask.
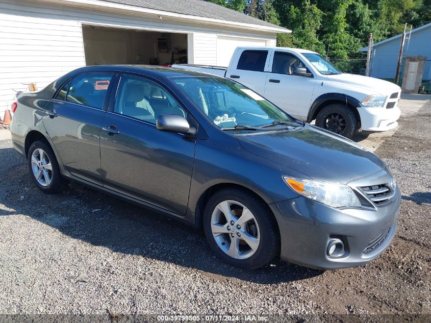
[[[388,95],[400,90],[400,87],[388,81],[370,78],[355,74],[334,74],[327,75],[327,79],[333,83],[347,84],[363,89],[364,94]]]

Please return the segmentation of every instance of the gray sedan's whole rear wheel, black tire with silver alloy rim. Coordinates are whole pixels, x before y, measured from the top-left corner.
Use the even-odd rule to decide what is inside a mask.
[[[33,182],[42,192],[58,193],[62,189],[65,181],[56,156],[46,141],[33,142],[27,156],[27,164]]]

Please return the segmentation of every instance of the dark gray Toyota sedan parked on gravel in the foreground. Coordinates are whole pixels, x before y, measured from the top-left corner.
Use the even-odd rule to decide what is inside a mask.
[[[237,267],[358,266],[396,232],[400,192],[382,160],[210,74],[80,68],[21,94],[11,132],[43,192],[73,180],[159,211]]]

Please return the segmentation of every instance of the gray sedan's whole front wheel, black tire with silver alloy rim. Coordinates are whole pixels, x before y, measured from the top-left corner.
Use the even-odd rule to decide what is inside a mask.
[[[229,221],[219,205],[224,205]],[[223,189],[211,196],[204,211],[204,231],[217,257],[235,267],[256,269],[280,254],[280,233],[271,210],[242,189]]]

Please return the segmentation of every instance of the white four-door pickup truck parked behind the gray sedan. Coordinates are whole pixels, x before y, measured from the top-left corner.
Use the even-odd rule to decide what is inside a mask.
[[[290,115],[350,138],[355,131],[395,128],[399,86],[342,73],[319,54],[284,47],[238,47],[229,67],[174,64],[233,79]]]

